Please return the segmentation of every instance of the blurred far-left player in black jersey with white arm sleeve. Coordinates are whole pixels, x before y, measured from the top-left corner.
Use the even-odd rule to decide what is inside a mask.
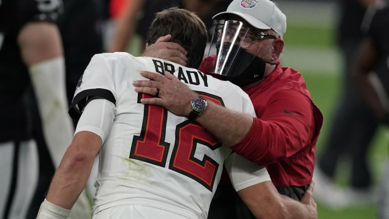
[[[72,140],[72,123],[66,113],[62,42],[55,24],[61,10],[61,0],[0,1],[3,219],[26,217],[38,180],[37,148],[25,99],[28,86],[33,87],[37,96],[45,140],[56,166]],[[87,202],[83,207],[88,207]],[[88,208],[78,210],[73,214],[88,215]]]

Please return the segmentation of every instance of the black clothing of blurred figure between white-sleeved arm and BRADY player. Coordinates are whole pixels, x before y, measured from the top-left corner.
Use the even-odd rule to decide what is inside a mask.
[[[66,0],[58,21],[64,45],[66,89],[69,105],[79,77],[94,54],[102,53],[103,0]]]

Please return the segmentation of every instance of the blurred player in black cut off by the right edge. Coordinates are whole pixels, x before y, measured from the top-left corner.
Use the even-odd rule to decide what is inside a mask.
[[[386,27],[386,28],[383,28]],[[365,37],[359,43],[351,65],[351,76],[376,121],[389,124],[389,5],[377,1],[362,22]],[[384,168],[378,196],[378,218],[389,219],[389,159]],[[359,200],[362,202],[364,200]]]

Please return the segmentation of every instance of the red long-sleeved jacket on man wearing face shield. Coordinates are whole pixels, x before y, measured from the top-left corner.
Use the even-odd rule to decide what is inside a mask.
[[[257,118],[232,149],[266,166],[275,186],[305,186],[312,180],[323,116],[301,73],[279,65],[258,85],[245,90]]]

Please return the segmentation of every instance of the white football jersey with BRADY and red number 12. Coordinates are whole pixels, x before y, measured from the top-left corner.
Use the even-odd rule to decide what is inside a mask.
[[[70,110],[79,116],[96,98],[115,104],[110,131],[94,128],[100,130],[95,133],[102,136],[103,146],[93,214],[112,206],[145,205],[206,219],[224,163],[236,190],[270,181],[265,168],[222,146],[193,120],[141,104],[141,98],[150,97],[134,91],[132,81],[146,79],[141,71],[173,73],[208,101],[255,116],[248,95],[239,87],[198,70],[123,52],[93,56]],[[78,126],[77,132],[94,129]]]

